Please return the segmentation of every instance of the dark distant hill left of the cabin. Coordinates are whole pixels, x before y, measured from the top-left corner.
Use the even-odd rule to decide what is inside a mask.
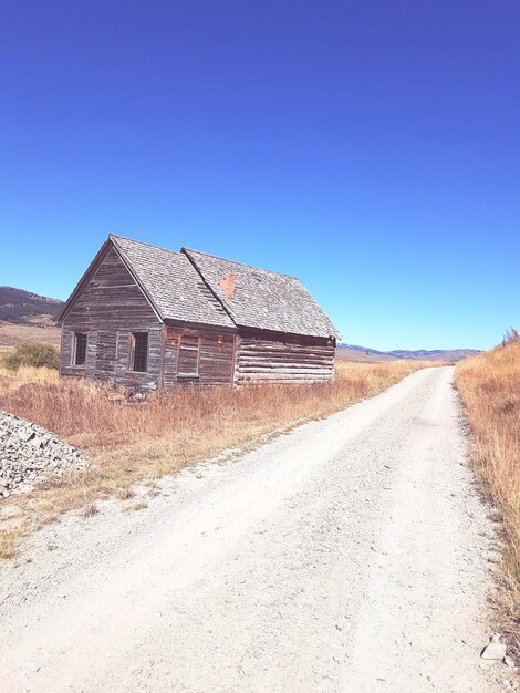
[[[14,289],[0,287],[0,320],[15,324],[52,324],[63,301]]]

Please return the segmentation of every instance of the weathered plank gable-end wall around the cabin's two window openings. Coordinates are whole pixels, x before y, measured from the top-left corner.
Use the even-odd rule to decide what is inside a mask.
[[[74,332],[86,332],[84,366],[72,364]],[[148,370],[131,370],[132,332],[148,333]],[[160,386],[163,324],[126,269],[114,248],[110,248],[64,317],[60,372],[114,382],[138,390]]]

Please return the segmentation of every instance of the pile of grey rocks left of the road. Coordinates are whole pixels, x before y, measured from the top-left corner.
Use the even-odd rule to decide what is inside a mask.
[[[86,457],[54,433],[0,411],[0,498],[22,494],[67,469],[82,469]]]

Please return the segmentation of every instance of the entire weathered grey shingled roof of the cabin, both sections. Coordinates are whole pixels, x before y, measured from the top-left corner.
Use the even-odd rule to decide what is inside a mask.
[[[198,250],[165,250],[113,234],[69,298],[60,320],[111,245],[163,321],[340,337],[334,324],[295,277]]]

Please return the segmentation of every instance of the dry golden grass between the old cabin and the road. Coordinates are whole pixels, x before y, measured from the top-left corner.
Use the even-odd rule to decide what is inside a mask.
[[[333,383],[180,391],[132,406],[111,402],[107,391],[93,384],[59,379],[55,371],[0,370],[0,410],[86,449],[91,462],[85,472],[66,474],[29,496],[3,503],[21,505],[21,518],[35,524],[71,509],[87,516],[98,498],[128,498],[136,482],[153,484],[222,451],[251,448],[259,436],[264,441],[343,410],[425,365],[431,364],[339,363]],[[4,555],[11,552],[9,547],[8,541]]]

